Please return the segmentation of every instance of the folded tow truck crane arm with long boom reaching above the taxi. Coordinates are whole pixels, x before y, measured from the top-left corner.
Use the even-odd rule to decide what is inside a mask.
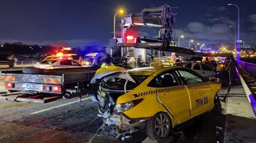
[[[157,8],[146,8],[140,13],[132,13],[129,16],[122,18],[121,28],[128,29],[130,26],[153,26],[160,27],[165,32],[159,38],[141,37],[137,43],[118,43],[117,47],[134,47],[145,48],[151,50],[160,50],[181,53],[193,56],[221,56],[229,57],[231,53],[201,53],[194,52],[191,49],[175,46],[175,22],[176,12],[171,11],[171,6],[163,5]],[[124,36],[125,37],[125,36]],[[124,40],[127,41],[127,40]]]

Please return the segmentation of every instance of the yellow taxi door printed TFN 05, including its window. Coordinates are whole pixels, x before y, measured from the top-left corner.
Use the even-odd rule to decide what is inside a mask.
[[[177,69],[177,72],[188,88],[192,115],[198,115],[209,110],[211,108],[211,94],[213,94],[209,82],[204,82],[201,75],[190,69],[180,68]]]

